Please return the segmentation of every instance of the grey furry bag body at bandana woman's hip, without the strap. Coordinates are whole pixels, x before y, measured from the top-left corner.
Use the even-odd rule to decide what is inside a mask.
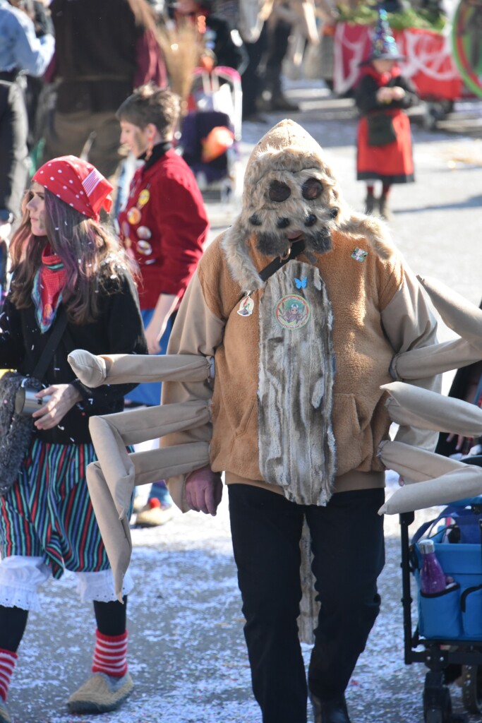
[[[0,378],[0,495],[6,495],[17,479],[33,433],[32,418],[15,411],[22,383],[35,392],[42,388],[38,379],[18,372],[5,372]]]

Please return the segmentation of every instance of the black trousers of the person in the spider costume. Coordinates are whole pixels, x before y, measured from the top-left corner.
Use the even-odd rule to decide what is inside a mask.
[[[324,508],[247,484],[230,484],[228,494],[254,696],[264,723],[306,723],[296,623],[304,517],[321,602],[308,682],[314,695],[329,700],[343,695],[379,612],[384,537],[377,510],[384,491],[340,492]]]

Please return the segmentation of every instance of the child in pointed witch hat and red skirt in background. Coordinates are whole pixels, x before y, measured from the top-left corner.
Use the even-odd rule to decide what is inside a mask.
[[[403,109],[417,103],[416,90],[403,77],[397,61],[403,56],[379,10],[369,58],[355,88],[355,102],[361,114],[358,124],[356,178],[366,181],[365,213],[379,211],[390,220],[389,194],[394,183],[411,183],[413,173],[410,120]],[[382,181],[382,193],[374,195],[375,182]],[[378,208],[376,208],[378,207]]]

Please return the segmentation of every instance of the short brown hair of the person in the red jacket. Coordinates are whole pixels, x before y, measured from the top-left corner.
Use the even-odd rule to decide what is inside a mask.
[[[116,113],[119,121],[127,121],[144,129],[154,124],[163,138],[171,137],[176,128],[181,100],[168,88],[152,83],[141,85],[124,100]]]

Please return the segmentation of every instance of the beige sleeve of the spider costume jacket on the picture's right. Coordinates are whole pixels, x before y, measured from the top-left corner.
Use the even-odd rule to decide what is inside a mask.
[[[410,269],[404,269],[403,281],[382,311],[382,324],[395,354],[412,349],[427,348],[436,344],[436,318],[431,302]],[[411,380],[413,385],[440,393],[441,375]],[[428,429],[400,426],[397,442],[433,451],[438,435]]]

